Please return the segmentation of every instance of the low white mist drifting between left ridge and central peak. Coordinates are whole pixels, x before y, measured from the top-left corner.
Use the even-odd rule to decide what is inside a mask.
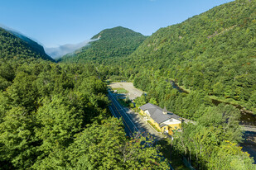
[[[98,40],[98,39],[95,39]],[[58,47],[53,48],[45,48],[46,54],[50,55],[53,59],[59,59],[65,54],[73,53],[75,50],[78,50],[86,45],[89,45],[89,42],[94,40],[85,40],[78,44],[68,44],[68,45],[60,45]]]

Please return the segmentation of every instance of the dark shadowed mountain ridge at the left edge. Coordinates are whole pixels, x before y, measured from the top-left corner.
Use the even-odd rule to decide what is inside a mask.
[[[55,61],[49,57],[44,48],[17,31],[6,30],[0,27],[0,54],[4,59],[36,58]]]

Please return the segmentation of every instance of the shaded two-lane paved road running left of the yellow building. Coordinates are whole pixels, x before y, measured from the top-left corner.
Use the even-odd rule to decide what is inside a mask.
[[[122,118],[124,124],[124,130],[128,136],[132,136],[134,132],[142,133],[141,130],[138,130],[137,125],[133,123],[133,120],[127,115],[123,106],[120,105],[117,98],[109,92],[108,94],[109,100],[112,101],[112,104],[109,106],[110,111],[112,112],[113,116]]]

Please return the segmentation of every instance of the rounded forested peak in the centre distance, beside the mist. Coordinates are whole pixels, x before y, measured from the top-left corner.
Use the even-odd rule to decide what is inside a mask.
[[[146,36],[122,26],[106,29],[94,35],[91,42],[74,54],[66,54],[60,60],[63,62],[86,62],[96,60],[102,63],[132,54],[146,39]]]

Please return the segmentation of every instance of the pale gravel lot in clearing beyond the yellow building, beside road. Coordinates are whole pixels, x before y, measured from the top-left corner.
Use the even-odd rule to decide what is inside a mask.
[[[129,99],[133,100],[136,97],[140,97],[142,96],[142,91],[138,90],[138,88],[133,86],[133,83],[110,83],[109,84],[110,87],[112,88],[124,88],[125,90],[128,91],[128,94],[126,94]]]

